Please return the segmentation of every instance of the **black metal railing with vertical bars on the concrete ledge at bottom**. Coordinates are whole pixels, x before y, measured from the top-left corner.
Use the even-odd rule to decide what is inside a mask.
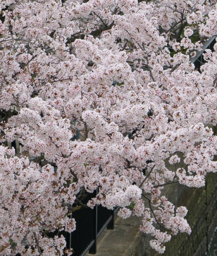
[[[91,198],[95,197],[96,191],[87,194],[82,200],[86,204]],[[105,227],[114,229],[114,213],[116,210],[108,210],[101,205],[95,206],[94,209],[89,207],[82,208],[71,214],[76,220],[76,230],[72,233],[65,231],[49,233],[49,237],[57,234],[63,235],[66,240],[66,247],[73,249],[73,256],[83,256],[88,250],[89,253],[96,253],[97,237]]]

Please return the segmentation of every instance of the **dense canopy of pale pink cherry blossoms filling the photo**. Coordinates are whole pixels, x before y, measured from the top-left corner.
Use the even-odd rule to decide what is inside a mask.
[[[0,8],[1,255],[70,254],[46,234],[74,231],[73,203],[96,188],[88,206],[143,216],[160,253],[171,235],[190,234],[187,209],[161,190],[201,187],[217,168],[217,44],[200,72],[191,62],[217,34],[216,1]]]

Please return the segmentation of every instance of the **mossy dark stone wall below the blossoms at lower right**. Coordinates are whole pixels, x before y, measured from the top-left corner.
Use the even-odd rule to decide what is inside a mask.
[[[165,256],[204,256],[208,244],[217,226],[217,174],[208,174],[206,185],[201,188],[189,188],[174,184],[169,191],[173,191],[168,198],[176,206],[186,206],[189,210],[187,220],[192,233],[180,233],[173,236],[166,244]],[[147,243],[145,236],[141,237],[141,251],[139,256],[159,256]],[[143,245],[142,245],[143,244]],[[146,244],[146,249],[144,249]]]

